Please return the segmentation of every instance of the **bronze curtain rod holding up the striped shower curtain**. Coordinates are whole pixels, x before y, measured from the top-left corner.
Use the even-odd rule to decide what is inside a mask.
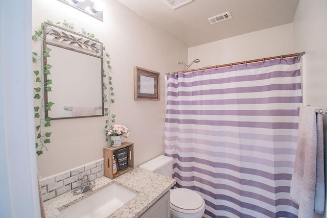
[[[234,66],[234,65],[248,64],[248,63],[259,62],[259,61],[267,61],[267,60],[272,60],[272,59],[276,59],[276,58],[299,57],[299,56],[302,56],[304,54],[306,54],[306,52],[299,52],[299,53],[294,53],[294,54],[289,54],[289,55],[274,56],[274,57],[263,58],[263,59],[254,59],[254,60],[250,60],[250,61],[241,61],[241,62],[235,62],[235,63],[230,63],[230,64],[216,65],[216,66],[208,66],[208,67],[202,67],[202,68],[197,68],[197,69],[188,69],[188,70],[183,70],[183,71],[179,71],[179,72],[193,72],[193,71],[197,71],[197,70],[214,69],[214,68],[225,67],[225,66]],[[166,75],[178,74],[179,72],[169,72]]]

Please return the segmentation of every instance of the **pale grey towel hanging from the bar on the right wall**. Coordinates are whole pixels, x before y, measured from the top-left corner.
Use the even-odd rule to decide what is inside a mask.
[[[322,180],[324,184],[322,115],[316,113],[317,109],[301,107],[299,114],[298,142],[290,190],[291,199],[299,205],[299,218],[313,217],[315,196],[317,209],[321,208],[322,202],[324,205],[324,190],[322,195],[320,187]]]

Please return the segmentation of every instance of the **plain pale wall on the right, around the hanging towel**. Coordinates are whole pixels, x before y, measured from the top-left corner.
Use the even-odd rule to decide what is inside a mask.
[[[300,0],[294,17],[294,49],[306,52],[306,102],[327,109],[327,1]],[[327,115],[324,115],[324,132]],[[326,134],[324,134],[326,136]],[[325,137],[325,141],[327,138]],[[325,172],[327,176],[327,172]],[[327,181],[327,177],[325,178]],[[325,188],[327,190],[327,187]],[[326,217],[326,214],[314,214]]]

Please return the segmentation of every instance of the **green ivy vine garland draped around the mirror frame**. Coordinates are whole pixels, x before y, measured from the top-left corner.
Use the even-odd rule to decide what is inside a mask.
[[[48,23],[53,23],[51,21],[47,21]],[[69,23],[67,21],[64,20],[64,22],[60,23],[57,22],[56,25],[61,25],[62,28],[65,29],[69,29],[71,31],[75,31],[74,25],[73,23]],[[41,23],[41,27],[35,31],[35,35],[32,36],[32,40],[35,42],[41,42],[41,51],[40,51],[40,55],[37,52],[33,52],[33,56],[32,56],[32,62],[33,62],[33,69],[35,69],[33,71],[34,75],[35,75],[35,86],[34,87],[34,99],[38,101],[38,106],[34,107],[34,118],[36,119],[36,142],[35,142],[35,147],[36,147],[36,154],[37,155],[41,155],[43,153],[43,149],[45,149],[46,151],[48,151],[48,148],[46,147],[46,144],[51,143],[50,141],[50,136],[51,136],[51,132],[46,132],[44,128],[46,127],[50,127],[51,126],[51,117],[44,117],[44,115],[42,114],[43,110],[51,110],[51,107],[55,104],[53,102],[48,102],[47,104],[44,104],[44,92],[45,91],[52,91],[52,80],[47,79],[46,81],[44,81],[44,75],[51,75],[51,65],[50,64],[46,64],[45,66],[43,66],[43,58],[44,57],[50,57],[51,54],[51,49],[49,49],[48,47],[46,47],[45,49],[43,49],[43,31],[44,31],[44,25],[43,23]],[[90,42],[91,44],[89,44],[89,42],[79,42],[78,40],[76,40],[76,38],[74,38],[71,35],[67,35],[67,34],[63,34],[61,35],[59,32],[56,32],[54,30],[53,34],[55,37],[57,37],[57,40],[62,40],[62,41],[71,41],[71,43],[76,43],[79,47],[81,47],[81,49],[83,49],[83,46],[87,47],[88,49],[92,49],[95,52],[99,52],[98,48],[94,46],[94,44],[92,42]],[[86,33],[86,31],[84,29],[82,29],[82,33],[79,33],[85,36],[88,36],[89,38],[98,40],[94,34],[91,33]],[[103,46],[102,51],[105,51],[105,47]],[[109,61],[109,54],[108,53],[103,53],[103,61],[104,61],[104,69],[103,69],[103,77],[106,78],[107,77],[107,82],[103,83],[103,89],[108,91],[108,95],[107,94],[103,94],[102,98],[103,98],[103,102],[108,102],[108,107],[104,108],[105,111],[105,116],[107,116],[108,118],[106,119],[106,125],[105,125],[105,129],[108,127],[109,123],[114,123],[115,122],[115,115],[114,114],[110,114],[110,105],[114,103],[114,93],[113,93],[113,87],[112,87],[112,77],[109,76],[109,69],[111,68],[110,66],[110,61]],[[40,61],[40,65],[38,65],[38,62]],[[38,68],[38,69],[37,69]],[[45,133],[44,133],[45,132]],[[108,137],[106,137],[106,141],[108,141]]]

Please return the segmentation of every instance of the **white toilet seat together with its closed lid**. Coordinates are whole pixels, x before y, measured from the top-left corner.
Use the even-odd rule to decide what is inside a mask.
[[[204,208],[203,198],[187,188],[176,188],[170,195],[170,208],[181,213],[197,213]]]

